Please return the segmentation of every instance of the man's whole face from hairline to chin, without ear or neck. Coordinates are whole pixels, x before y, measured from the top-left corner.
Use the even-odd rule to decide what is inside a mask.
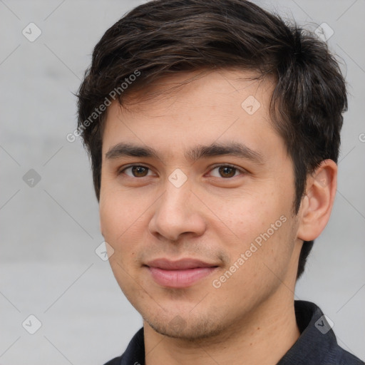
[[[101,230],[115,278],[161,334],[198,339],[294,286],[294,172],[269,120],[270,81],[196,73],[113,103],[103,132]],[[240,78],[240,79],[239,79]]]

